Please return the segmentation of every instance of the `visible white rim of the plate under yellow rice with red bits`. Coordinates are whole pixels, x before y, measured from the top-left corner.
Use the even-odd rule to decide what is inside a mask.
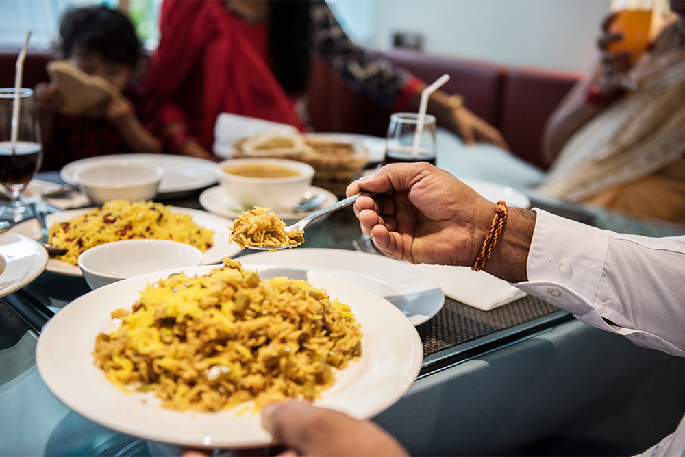
[[[158,203],[160,204],[160,203]],[[211,214],[206,211],[192,210],[190,208],[178,208],[175,206],[164,206],[165,208],[170,208],[172,213],[175,214],[188,214],[192,219],[192,222],[197,224],[199,227],[203,227],[207,230],[213,230],[214,234],[210,241],[211,247],[198,247],[203,251],[203,264],[217,264],[220,263],[224,257],[232,257],[241,251],[240,247],[235,243],[228,243],[229,236],[229,226],[232,225],[232,221],[225,219],[223,217],[217,216],[216,214]],[[68,210],[62,212],[55,212],[52,214],[47,214],[46,223],[48,228],[50,228],[55,223],[63,223],[79,217],[86,212],[93,210],[94,208],[79,208],[77,210]],[[40,226],[36,219],[31,219],[29,221],[24,221],[14,225],[10,232],[22,234],[28,236],[29,238],[40,237]],[[173,233],[172,233],[173,235]],[[117,238],[102,238],[102,242],[114,241],[116,239],[127,239],[127,236],[121,236]],[[169,238],[166,238],[169,239]],[[173,239],[173,238],[171,238]],[[176,239],[182,241],[180,239]],[[101,244],[101,243],[99,243]],[[78,265],[74,263],[64,262],[58,258],[50,258],[47,262],[47,271],[51,273],[58,273],[60,275],[67,276],[82,276],[81,269]]]

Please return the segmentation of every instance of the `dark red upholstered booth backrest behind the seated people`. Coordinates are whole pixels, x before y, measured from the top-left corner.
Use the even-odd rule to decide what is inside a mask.
[[[0,87],[14,86],[18,49],[0,49]],[[425,82],[443,73],[451,76],[447,92],[464,95],[466,105],[495,125],[512,152],[532,164],[544,166],[540,138],[549,114],[579,75],[536,69],[514,69],[482,62],[436,57],[407,49],[393,49],[386,57]],[[24,64],[23,86],[34,88],[48,81],[45,64],[50,51],[29,51]],[[389,110],[353,92],[321,60],[312,61],[308,88],[312,127],[319,132],[352,132],[384,136]]]

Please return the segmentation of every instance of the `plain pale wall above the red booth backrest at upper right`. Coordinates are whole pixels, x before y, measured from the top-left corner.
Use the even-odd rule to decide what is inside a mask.
[[[587,71],[610,0],[329,0],[358,42],[388,49],[395,32],[424,50],[501,64]]]

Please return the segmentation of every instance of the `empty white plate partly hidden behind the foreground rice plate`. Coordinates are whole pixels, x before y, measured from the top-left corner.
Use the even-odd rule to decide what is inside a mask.
[[[433,317],[445,303],[445,294],[432,277],[408,262],[377,254],[299,247],[247,254],[238,260],[246,264],[321,271],[340,277],[384,297],[414,325]]]

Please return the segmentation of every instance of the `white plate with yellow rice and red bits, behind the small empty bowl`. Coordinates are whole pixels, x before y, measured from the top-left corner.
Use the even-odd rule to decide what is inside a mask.
[[[116,240],[158,238],[188,243],[203,252],[203,264],[220,263],[241,250],[228,243],[229,219],[152,201],[108,201],[101,207],[47,214],[45,219],[50,243],[69,249],[64,256],[50,258],[46,270],[67,276],[82,276],[77,265],[82,251]],[[40,227],[31,219],[12,227],[12,232],[38,238]]]

